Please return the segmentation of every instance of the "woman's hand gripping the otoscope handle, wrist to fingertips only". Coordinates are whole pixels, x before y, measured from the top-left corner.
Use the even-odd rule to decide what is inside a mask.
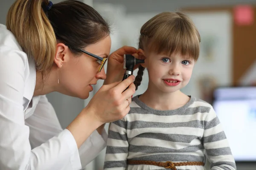
[[[122,82],[103,85],[84,108],[84,113],[93,113],[100,124],[122,119],[130,111],[131,96],[135,93],[133,81],[132,75]]]

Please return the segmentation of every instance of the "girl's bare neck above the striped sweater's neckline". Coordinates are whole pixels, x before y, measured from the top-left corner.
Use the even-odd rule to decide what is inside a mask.
[[[175,110],[186,105],[190,97],[180,90],[172,93],[161,93],[148,88],[144,94],[140,95],[140,101],[150,108],[161,111]]]

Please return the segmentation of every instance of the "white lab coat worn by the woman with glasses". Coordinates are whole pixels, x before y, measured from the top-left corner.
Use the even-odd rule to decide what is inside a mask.
[[[95,130],[78,150],[46,96],[33,97],[35,80],[35,62],[0,24],[0,170],[80,170],[107,134]]]

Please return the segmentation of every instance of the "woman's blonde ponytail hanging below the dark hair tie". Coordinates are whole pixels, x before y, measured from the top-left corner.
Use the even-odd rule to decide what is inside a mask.
[[[52,67],[56,48],[54,30],[43,10],[48,4],[49,0],[16,0],[6,18],[7,29],[42,74]]]

